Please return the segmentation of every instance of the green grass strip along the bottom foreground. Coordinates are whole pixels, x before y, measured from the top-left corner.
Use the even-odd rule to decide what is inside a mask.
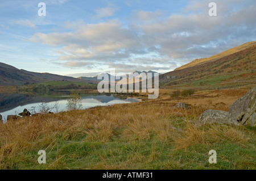
[[[101,142],[57,139],[47,150],[47,163],[39,165],[37,150],[20,154],[12,169],[256,169],[255,149],[234,143],[193,145],[173,150],[160,141]],[[208,151],[217,151],[217,163]]]

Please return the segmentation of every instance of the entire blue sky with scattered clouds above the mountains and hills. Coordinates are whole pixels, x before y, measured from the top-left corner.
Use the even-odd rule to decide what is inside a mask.
[[[166,73],[255,41],[255,17],[255,0],[1,0],[0,62],[73,77]]]

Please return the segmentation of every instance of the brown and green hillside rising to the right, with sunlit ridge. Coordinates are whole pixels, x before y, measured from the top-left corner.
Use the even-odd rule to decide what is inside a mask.
[[[241,47],[246,48],[236,52]],[[235,53],[230,54],[230,52]],[[225,54],[228,55],[224,56]],[[200,59],[201,62],[197,62],[197,64],[192,61],[181,68],[160,75],[161,86],[216,89],[256,85],[256,41],[226,50],[212,57],[214,58],[208,58],[208,61]]]

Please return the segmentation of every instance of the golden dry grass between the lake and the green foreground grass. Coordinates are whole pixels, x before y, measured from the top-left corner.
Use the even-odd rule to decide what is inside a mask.
[[[48,114],[34,117],[24,117],[19,120],[7,121],[0,124],[0,168],[13,169],[15,160],[22,159],[24,153],[32,150],[44,149],[52,151],[58,146],[58,139],[65,141],[79,140],[81,142],[106,143],[113,140],[121,142],[151,141],[150,161],[159,158],[161,154],[154,141],[174,145],[175,150],[188,149],[189,146],[204,144],[212,145],[223,141],[234,142],[245,146],[250,139],[245,135],[243,127],[229,127],[225,125],[204,125],[196,127],[194,121],[203,111],[214,108],[208,99],[224,102],[225,106],[230,100],[236,100],[237,95],[232,92],[197,91],[189,98],[172,99],[165,94],[171,90],[164,90],[160,99],[140,103],[115,104],[106,107],[94,107],[88,110],[77,110]],[[201,96],[199,99],[199,95]],[[242,95],[245,91],[236,91]],[[223,94],[223,95],[222,95]],[[210,97],[212,96],[212,97]],[[228,98],[223,99],[224,96]],[[191,103],[189,110],[174,108],[175,103]],[[195,104],[193,104],[195,103]],[[218,107],[220,108],[220,106]],[[190,121],[188,121],[190,120]],[[250,135],[254,137],[253,134]],[[97,150],[95,150],[97,153]],[[114,156],[98,153],[101,163],[93,169],[129,169],[129,164],[142,162],[144,155],[134,151],[133,157],[126,158],[125,163],[114,162]],[[111,155],[111,154],[110,154]],[[62,164],[65,155],[57,155],[56,161],[48,169],[56,169]],[[24,158],[25,159],[25,158]],[[176,165],[176,163],[174,163]]]

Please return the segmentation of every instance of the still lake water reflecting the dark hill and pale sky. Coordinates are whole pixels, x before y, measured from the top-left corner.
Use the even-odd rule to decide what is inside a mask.
[[[80,94],[80,96],[82,98],[82,109],[141,101],[138,98],[118,98],[112,94]],[[24,108],[32,113],[33,107],[35,107],[35,111],[40,112],[39,105],[42,102],[47,103],[49,107],[53,107],[56,103],[59,105],[58,110],[53,108],[51,112],[67,111],[68,97],[69,94],[67,92],[58,92],[57,94],[55,92],[44,96],[0,94],[0,114],[5,121],[8,115],[18,115],[18,113],[23,112]]]

